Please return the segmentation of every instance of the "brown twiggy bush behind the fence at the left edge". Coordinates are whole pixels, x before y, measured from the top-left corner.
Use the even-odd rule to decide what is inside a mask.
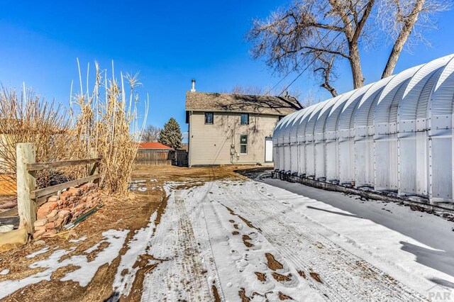
[[[70,135],[69,116],[54,101],[44,101],[33,91],[3,88],[0,92],[0,173],[6,184],[16,182],[16,143],[34,142],[39,162],[67,160],[73,157],[75,138]],[[77,177],[65,169],[38,172],[38,187]]]

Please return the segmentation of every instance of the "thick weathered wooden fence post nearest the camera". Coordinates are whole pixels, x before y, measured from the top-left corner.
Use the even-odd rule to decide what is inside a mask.
[[[17,209],[20,218],[19,228],[25,228],[28,234],[33,234],[36,220],[35,201],[31,199],[31,191],[35,190],[35,171],[28,171],[27,164],[36,161],[36,146],[31,142],[21,142],[16,145],[17,172]]]

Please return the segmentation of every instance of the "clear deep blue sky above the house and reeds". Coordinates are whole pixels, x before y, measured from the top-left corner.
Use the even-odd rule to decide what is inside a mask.
[[[0,82],[33,87],[46,99],[69,103],[71,81],[98,61],[116,71],[140,72],[140,94],[150,94],[148,124],[170,117],[184,124],[184,94],[196,79],[197,91],[221,92],[236,84],[270,87],[279,81],[249,55],[244,35],[255,17],[285,4],[261,1],[2,1]],[[404,52],[396,72],[454,52],[453,11],[438,16],[438,30],[426,35],[432,47]],[[366,82],[380,79],[390,45],[362,50]],[[339,92],[351,89],[350,69],[339,67]],[[291,74],[284,83],[289,83]],[[74,85],[75,86],[75,85]],[[294,86],[321,99],[328,94],[308,76]]]

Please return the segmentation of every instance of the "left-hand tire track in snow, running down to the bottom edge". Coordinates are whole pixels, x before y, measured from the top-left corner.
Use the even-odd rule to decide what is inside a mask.
[[[190,190],[167,189],[170,194],[167,208],[148,251],[159,260],[155,260],[157,267],[144,278],[141,300],[213,301],[209,281],[214,279],[218,285],[218,276],[210,261],[205,261],[213,258],[211,250],[205,248],[209,245],[208,235],[199,232],[196,237],[192,222],[199,221],[190,217],[194,215],[194,206],[182,198]],[[203,215],[197,218],[204,219]],[[206,230],[206,225],[203,229]]]

